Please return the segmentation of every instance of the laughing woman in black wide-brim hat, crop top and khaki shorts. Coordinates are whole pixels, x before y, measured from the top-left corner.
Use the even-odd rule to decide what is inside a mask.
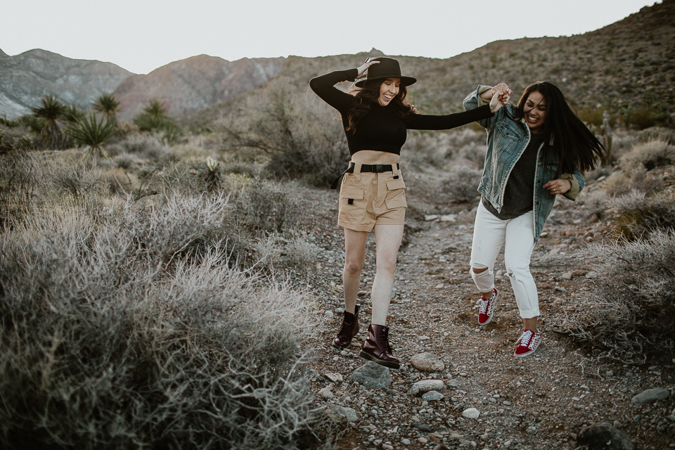
[[[359,79],[361,77],[364,79]],[[356,82],[349,93],[335,84]],[[359,68],[339,70],[316,77],[311,89],[340,112],[352,160],[340,187],[338,225],[345,229],[345,269],[342,282],[345,293],[345,317],[333,347],[349,347],[359,332],[359,307],[356,294],[366,257],[366,236],[375,233],[377,271],[371,301],[373,314],[368,338],[360,356],[390,368],[399,368],[399,360],[389,345],[387,312],[394,285],[394,269],[406,214],[406,190],[399,155],[408,129],[451,129],[475,120],[491,117],[503,98],[494,96],[489,105],[451,115],[418,114],[406,101],[407,86],[413,77],[401,75],[393,58],[368,58]],[[333,184],[337,187],[338,180]]]

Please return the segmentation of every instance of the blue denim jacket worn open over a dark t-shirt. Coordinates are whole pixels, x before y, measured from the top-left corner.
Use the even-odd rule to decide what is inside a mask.
[[[488,103],[479,97],[487,87],[478,86],[478,89],[466,96],[464,99],[464,109],[470,110],[480,105]],[[504,200],[504,191],[506,190],[506,181],[511,173],[511,169],[525,151],[529,143],[529,127],[525,124],[525,119],[520,121],[513,120],[518,108],[515,105],[504,105],[494,116],[480,120],[478,123],[487,129],[487,153],[485,154],[485,165],[483,174],[478,186],[478,192],[484,195],[491,205],[501,211]],[[553,139],[553,136],[551,137]],[[544,229],[544,224],[548,215],[553,210],[555,195],[552,195],[544,184],[555,179],[558,172],[558,160],[551,159],[553,155],[544,155],[541,149],[542,143],[536,153],[536,172],[534,174],[534,198],[532,199],[532,208],[534,211],[534,242],[539,240],[539,235]],[[570,200],[577,198],[577,195],[584,188],[584,176],[581,175],[578,168],[574,169],[573,174],[561,174],[560,179],[570,180],[572,188],[567,191],[565,197]]]

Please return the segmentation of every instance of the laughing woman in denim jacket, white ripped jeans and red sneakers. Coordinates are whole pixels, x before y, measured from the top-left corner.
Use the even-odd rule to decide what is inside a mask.
[[[478,108],[494,94],[508,97],[511,91],[506,84],[478,86],[464,99],[464,108]],[[605,148],[572,112],[560,89],[548,82],[527,86],[517,107],[505,105],[478,123],[487,129],[470,262],[482,294],[478,323],[487,325],[494,316],[499,292],[493,267],[505,245],[506,273],[524,321],[515,356],[523,358],[541,342],[536,328],[539,298],[529,271],[532,250],[555,196],[574,200],[584,188],[579,169],[593,169],[596,155],[602,160]]]

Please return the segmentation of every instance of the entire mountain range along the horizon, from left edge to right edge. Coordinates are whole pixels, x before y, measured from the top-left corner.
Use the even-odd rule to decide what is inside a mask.
[[[230,62],[207,55],[134,75],[112,63],[73,60],[44,50],[7,56],[0,50],[0,116],[30,112],[46,94],[86,107],[101,92],[114,92],[121,117],[130,120],[150,98],[172,116],[210,120],[229,108],[228,98],[255,86],[307,89],[311,77],[352,68],[366,54],[323,58],[243,58]],[[675,82],[675,0],[645,6],[599,30],[571,37],[539,37],[490,44],[448,59],[395,56],[419,79],[413,102],[428,113],[457,110],[477,84],[508,82],[515,94],[548,79],[579,105],[633,105],[672,93]]]

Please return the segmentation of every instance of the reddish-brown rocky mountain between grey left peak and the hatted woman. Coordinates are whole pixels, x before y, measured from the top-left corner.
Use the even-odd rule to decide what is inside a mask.
[[[164,101],[169,115],[201,110],[241,94],[281,71],[284,58],[243,58],[230,62],[200,55],[167,64],[148,75],[134,75],[115,91],[120,117],[131,120],[150,98]]]

